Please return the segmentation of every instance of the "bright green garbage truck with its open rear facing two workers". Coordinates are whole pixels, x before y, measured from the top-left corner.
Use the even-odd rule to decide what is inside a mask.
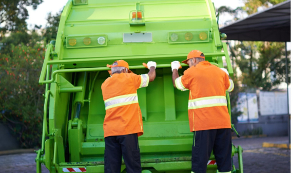
[[[188,93],[174,88],[171,62],[202,51],[205,60],[233,75],[227,45],[221,40],[211,0],[69,0],[56,40],[50,42],[39,79],[46,85],[42,148],[36,172],[104,172],[105,107],[101,85],[106,67],[128,62],[136,74],[155,61],[157,77],[138,89],[144,134],[139,138],[142,172],[191,172],[193,133],[188,123]],[[179,73],[187,69],[182,64]],[[229,94],[226,93],[230,113]],[[242,148],[233,146],[243,172]],[[122,162],[122,172],[125,164]],[[211,155],[207,172],[216,172]]]

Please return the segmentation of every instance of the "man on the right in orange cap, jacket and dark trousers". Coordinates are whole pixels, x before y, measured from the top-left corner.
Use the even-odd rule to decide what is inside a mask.
[[[189,127],[194,132],[191,170],[205,173],[214,150],[218,171],[231,172],[232,138],[226,91],[234,89],[233,81],[226,69],[205,61],[199,50],[189,52],[182,63],[189,65],[182,76],[178,73],[180,62],[171,63],[172,82],[179,90],[189,89]]]

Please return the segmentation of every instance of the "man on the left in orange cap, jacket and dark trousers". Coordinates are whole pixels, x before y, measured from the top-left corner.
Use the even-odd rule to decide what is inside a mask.
[[[143,124],[137,89],[147,87],[156,77],[156,63],[150,61],[145,66],[150,71],[137,75],[129,70],[127,62],[115,61],[111,77],[102,84],[106,109],[105,173],[120,172],[122,156],[127,173],[141,173],[138,137],[143,134]]]

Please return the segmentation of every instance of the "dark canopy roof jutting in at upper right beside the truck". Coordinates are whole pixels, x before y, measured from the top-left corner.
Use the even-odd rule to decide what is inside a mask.
[[[220,28],[226,40],[291,42],[291,0]]]

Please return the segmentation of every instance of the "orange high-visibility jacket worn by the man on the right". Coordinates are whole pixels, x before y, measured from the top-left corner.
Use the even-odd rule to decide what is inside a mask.
[[[175,81],[180,90],[189,89],[190,131],[231,128],[226,91],[234,89],[228,75],[208,61],[184,71]]]

